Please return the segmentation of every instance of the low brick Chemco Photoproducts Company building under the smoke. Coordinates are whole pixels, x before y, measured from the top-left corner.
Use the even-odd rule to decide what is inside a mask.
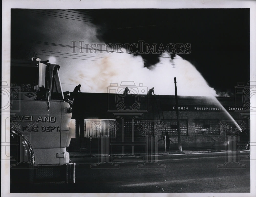
[[[249,133],[248,111],[242,98],[236,99],[178,96],[182,147],[222,146],[227,133],[238,140],[239,128]],[[95,141],[104,133],[111,142],[140,145],[153,133],[163,148],[167,132],[170,147],[178,147],[175,96],[81,93],[74,98],[72,114],[80,139],[91,136]]]

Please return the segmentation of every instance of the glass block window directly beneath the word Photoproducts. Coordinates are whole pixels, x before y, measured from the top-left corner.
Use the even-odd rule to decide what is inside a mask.
[[[220,135],[219,119],[195,119],[196,135]]]

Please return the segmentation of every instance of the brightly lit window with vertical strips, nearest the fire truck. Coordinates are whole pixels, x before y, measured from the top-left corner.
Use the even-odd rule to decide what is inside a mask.
[[[116,120],[84,119],[84,137],[115,137]]]

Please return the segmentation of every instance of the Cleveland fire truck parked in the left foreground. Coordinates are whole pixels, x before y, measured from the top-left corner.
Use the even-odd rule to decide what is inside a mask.
[[[75,138],[60,66],[32,58],[10,62],[10,182],[75,182],[67,147]]]

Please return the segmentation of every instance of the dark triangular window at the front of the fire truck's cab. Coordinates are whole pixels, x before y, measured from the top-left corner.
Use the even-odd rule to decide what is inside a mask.
[[[57,67],[55,67],[54,71],[53,71],[51,99],[54,99],[54,100],[56,100],[56,99],[63,100],[64,99]]]

